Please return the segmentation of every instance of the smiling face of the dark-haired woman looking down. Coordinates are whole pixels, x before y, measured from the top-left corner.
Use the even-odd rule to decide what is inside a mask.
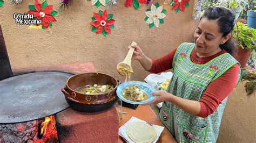
[[[194,32],[196,52],[199,57],[207,57],[221,51],[219,45],[223,41],[223,34],[219,30],[216,20],[202,18]]]

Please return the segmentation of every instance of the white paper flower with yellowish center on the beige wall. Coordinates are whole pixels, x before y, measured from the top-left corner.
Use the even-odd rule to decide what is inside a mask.
[[[147,24],[151,24],[154,23],[154,25],[156,25],[156,27],[159,26],[159,19],[165,18],[166,15],[164,13],[161,13],[161,11],[163,10],[163,5],[158,6],[158,8],[155,5],[151,5],[151,9],[150,11],[146,11],[146,16],[149,17],[146,20]]]

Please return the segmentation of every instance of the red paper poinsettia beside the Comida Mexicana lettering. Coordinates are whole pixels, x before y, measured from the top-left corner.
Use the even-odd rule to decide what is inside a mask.
[[[46,1],[45,1],[46,2]],[[43,5],[38,2],[38,0],[35,1],[35,10],[30,10],[26,13],[30,13],[33,15],[33,17],[36,17],[37,19],[42,19],[42,25],[47,29],[49,27],[50,22],[56,22],[57,20],[51,15],[51,12],[53,11],[53,5],[48,5],[46,2],[46,5]]]

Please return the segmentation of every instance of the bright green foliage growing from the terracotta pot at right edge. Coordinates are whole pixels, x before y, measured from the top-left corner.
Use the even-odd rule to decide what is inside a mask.
[[[256,30],[254,28],[249,28],[246,24],[238,22],[234,26],[232,35],[242,49],[256,49],[254,41],[256,39]]]

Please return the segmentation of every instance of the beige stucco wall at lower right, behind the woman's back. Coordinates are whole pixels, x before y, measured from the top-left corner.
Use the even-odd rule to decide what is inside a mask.
[[[245,81],[228,96],[218,142],[256,142],[256,97],[246,95]]]

